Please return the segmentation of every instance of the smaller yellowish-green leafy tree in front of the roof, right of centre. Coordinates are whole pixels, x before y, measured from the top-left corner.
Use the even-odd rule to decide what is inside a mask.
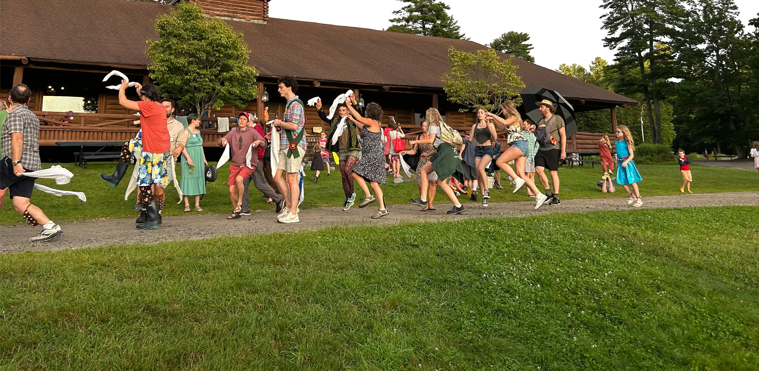
[[[514,57],[501,61],[493,49],[469,53],[451,48],[448,58],[451,71],[443,74],[441,80],[446,84],[448,100],[467,107],[459,111],[494,110],[503,99],[521,104],[519,92],[524,83],[517,74],[518,66],[512,64]]]

